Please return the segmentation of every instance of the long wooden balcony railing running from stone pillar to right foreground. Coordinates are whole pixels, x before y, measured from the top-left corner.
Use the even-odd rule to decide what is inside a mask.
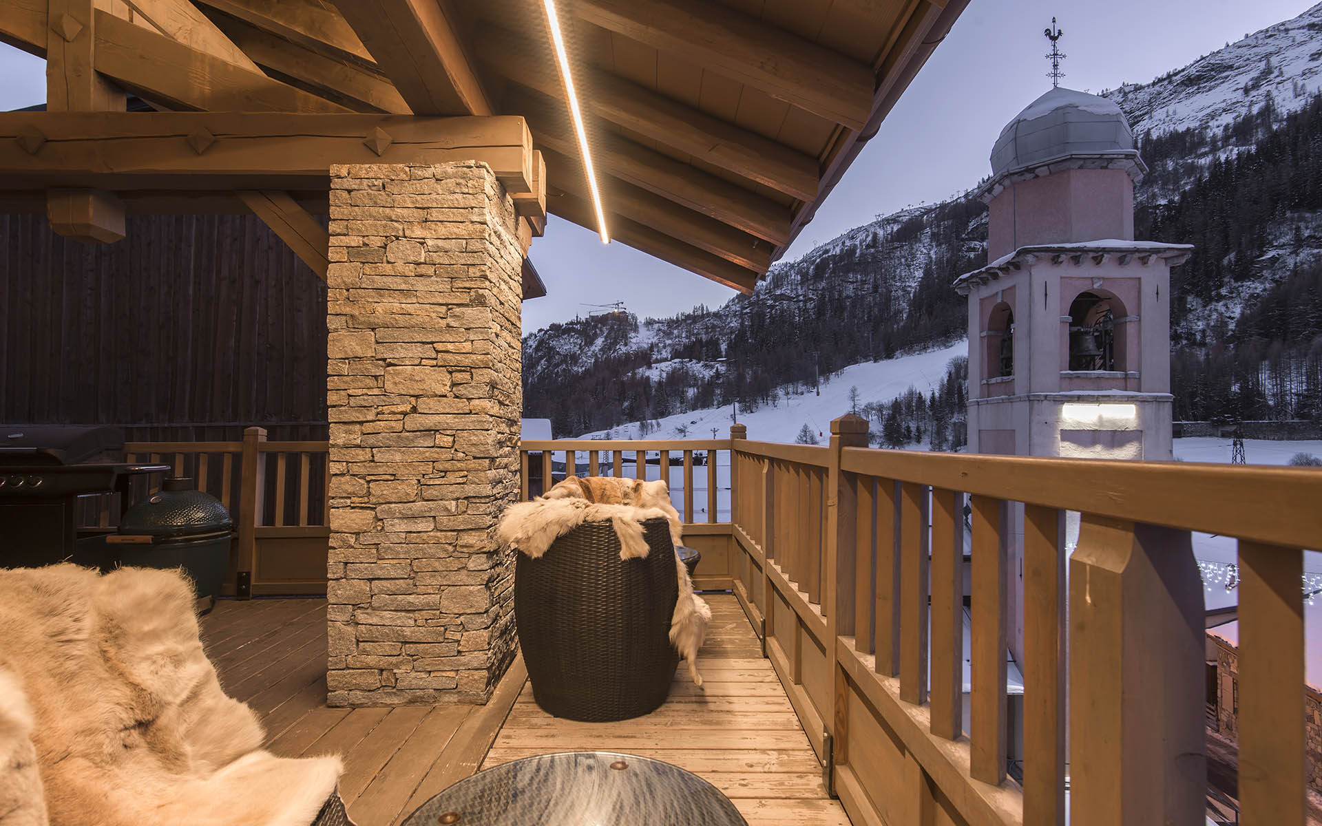
[[[1190,531],[1239,541],[1240,822],[1305,822],[1300,582],[1303,548],[1322,546],[1322,473],[869,449],[853,416],[832,424],[829,445],[744,436],[736,426],[730,440],[525,441],[524,494],[530,457],[535,477],[553,478],[562,452],[566,472],[616,476],[621,452],[656,453],[650,477],[674,480],[672,453],[714,453],[707,477],[728,485],[706,485],[707,517],[726,497],[731,514],[689,529],[728,550],[709,566],[703,548],[699,587],[728,587],[744,607],[855,823],[1062,825],[1067,778],[1075,826],[1203,823],[1203,585]],[[649,463],[633,470],[646,478]],[[678,482],[672,494],[691,502],[690,463]],[[1066,511],[1081,514],[1068,556]],[[1006,661],[1018,542],[1017,723]],[[1022,785],[1006,765],[1015,724]]]

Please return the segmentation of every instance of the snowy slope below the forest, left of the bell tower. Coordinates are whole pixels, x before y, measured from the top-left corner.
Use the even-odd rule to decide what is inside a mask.
[[[776,407],[764,406],[750,414],[739,414],[739,423],[748,427],[748,437],[758,441],[793,441],[800,428],[806,424],[814,433],[821,433],[825,444],[830,435],[830,420],[850,411],[849,390],[858,387],[859,404],[866,402],[890,402],[910,386],[924,393],[936,390],[945,377],[945,366],[956,356],[968,356],[968,341],[886,361],[865,362],[845,367],[836,375],[822,379],[821,395],[809,391],[780,399]],[[730,435],[731,406],[693,410],[660,419],[660,427],[652,423],[646,439],[678,439],[687,432],[689,439],[710,439],[711,430],[717,437]],[[631,422],[609,431],[583,433],[583,439],[604,437],[639,439],[637,422]]]

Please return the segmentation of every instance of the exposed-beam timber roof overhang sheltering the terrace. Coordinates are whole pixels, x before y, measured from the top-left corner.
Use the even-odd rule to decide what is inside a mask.
[[[563,4],[611,235],[750,292],[966,3]],[[596,229],[537,4],[140,0],[124,9],[79,0],[52,19],[44,0],[0,0],[0,40],[48,58],[52,110],[0,115],[0,207],[30,207],[36,193],[85,176],[79,186],[106,193],[102,210],[229,211],[251,207],[235,193],[284,192],[284,207],[307,211],[320,205],[312,161],[453,157],[457,143],[424,145],[428,131],[451,128],[439,119],[505,115],[531,136],[522,172],[509,172],[513,161],[498,172],[521,201],[525,243],[545,213]],[[123,91],[159,111],[126,115]],[[93,114],[106,119],[78,120]],[[317,123],[340,127],[300,131]],[[94,149],[98,128],[115,140]],[[160,149],[168,168],[151,169],[141,159]],[[253,160],[263,149],[264,168]]]

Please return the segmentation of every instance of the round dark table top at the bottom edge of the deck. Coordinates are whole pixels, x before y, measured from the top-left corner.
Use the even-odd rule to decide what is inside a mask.
[[[734,804],[680,767],[615,752],[537,755],[477,772],[403,826],[747,826]]]

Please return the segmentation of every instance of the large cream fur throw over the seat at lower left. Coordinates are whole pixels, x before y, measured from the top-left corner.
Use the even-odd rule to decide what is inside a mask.
[[[334,757],[259,751],[178,571],[0,571],[0,826],[307,826]]]

